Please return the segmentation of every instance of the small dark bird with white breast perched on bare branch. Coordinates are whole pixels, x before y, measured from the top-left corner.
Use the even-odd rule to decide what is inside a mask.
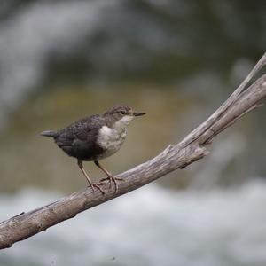
[[[115,192],[118,191],[116,180],[98,160],[105,159],[116,153],[127,136],[129,122],[136,116],[145,113],[134,112],[129,106],[114,106],[104,114],[95,114],[75,121],[65,129],[57,131],[47,130],[42,136],[53,137],[55,143],[69,156],[75,157],[83,175],[87,178],[89,185],[98,188],[105,193],[99,184],[92,184],[90,177],[83,168],[83,160],[93,160],[94,163],[104,171],[110,184],[115,184]]]

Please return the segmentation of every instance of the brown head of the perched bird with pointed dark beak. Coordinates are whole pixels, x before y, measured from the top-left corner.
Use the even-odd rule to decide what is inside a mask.
[[[104,113],[104,116],[112,125],[116,124],[116,126],[126,127],[135,117],[144,114],[133,111],[129,106],[114,106]]]

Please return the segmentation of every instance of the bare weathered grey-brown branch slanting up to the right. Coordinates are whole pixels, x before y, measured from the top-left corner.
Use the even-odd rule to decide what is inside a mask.
[[[13,243],[72,218],[90,207],[133,191],[177,168],[185,168],[193,161],[206,156],[206,145],[210,144],[213,137],[230,127],[244,114],[260,106],[260,102],[266,97],[266,74],[246,88],[254,75],[265,65],[266,53],[231,97],[183,141],[169,145],[152,160],[116,176],[123,179],[119,184],[118,193],[115,193],[114,187],[110,188],[106,182],[103,184],[105,195],[99,191],[92,192],[90,188],[82,189],[47,206],[21,213],[0,223],[0,249],[10,247]]]

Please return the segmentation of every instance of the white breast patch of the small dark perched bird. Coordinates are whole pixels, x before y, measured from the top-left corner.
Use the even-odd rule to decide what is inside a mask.
[[[104,149],[101,158],[106,158],[116,153],[121,148],[126,136],[127,129],[117,130],[107,126],[99,129],[97,143]]]

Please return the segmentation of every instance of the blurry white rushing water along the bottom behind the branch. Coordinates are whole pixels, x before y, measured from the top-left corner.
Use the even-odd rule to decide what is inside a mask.
[[[1,220],[58,197],[2,195]],[[265,204],[261,181],[211,192],[152,184],[15,244],[0,265],[264,266]]]

